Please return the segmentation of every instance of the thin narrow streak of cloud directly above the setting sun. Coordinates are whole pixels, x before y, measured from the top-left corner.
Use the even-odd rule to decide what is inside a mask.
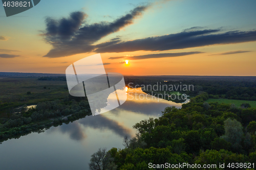
[[[166,58],[166,57],[180,57],[187,56],[192,54],[200,54],[203,52],[184,52],[184,53],[162,53],[162,54],[148,54],[142,56],[133,56],[126,58],[127,60],[142,60],[142,59],[150,59],[150,58]],[[109,59],[119,59],[124,57],[110,57]]]

